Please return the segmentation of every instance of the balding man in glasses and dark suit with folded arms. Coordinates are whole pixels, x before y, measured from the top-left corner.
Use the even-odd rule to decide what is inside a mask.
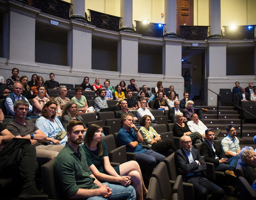
[[[175,166],[183,181],[193,184],[195,199],[206,200],[208,194],[212,195],[211,199],[222,199],[224,191],[201,174],[206,170],[206,164],[197,149],[192,149],[191,138],[188,135],[182,136],[180,145],[181,148],[174,154]]]

